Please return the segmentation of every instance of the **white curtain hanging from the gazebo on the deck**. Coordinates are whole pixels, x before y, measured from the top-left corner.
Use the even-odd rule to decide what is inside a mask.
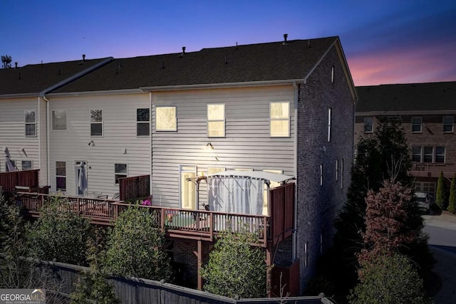
[[[208,177],[207,186],[212,211],[255,215],[263,212],[263,179]]]

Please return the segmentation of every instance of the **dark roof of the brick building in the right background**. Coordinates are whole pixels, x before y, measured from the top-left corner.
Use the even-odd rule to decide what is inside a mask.
[[[456,82],[356,87],[356,112],[456,110]]]

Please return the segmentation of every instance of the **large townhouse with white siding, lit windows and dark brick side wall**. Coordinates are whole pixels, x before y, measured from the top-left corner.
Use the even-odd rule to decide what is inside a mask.
[[[53,191],[113,196],[118,177],[151,174],[152,204],[200,209],[207,184],[189,178],[295,177],[294,229],[266,250],[276,266],[297,265],[300,281],[287,281],[304,291],[350,184],[357,95],[338,37],[116,59],[43,98]],[[174,259],[194,273],[201,248],[175,239]]]

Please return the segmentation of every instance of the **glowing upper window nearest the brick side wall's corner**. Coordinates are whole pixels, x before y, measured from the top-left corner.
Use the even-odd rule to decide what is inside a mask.
[[[270,103],[269,120],[269,135],[271,137],[289,137],[290,103]]]

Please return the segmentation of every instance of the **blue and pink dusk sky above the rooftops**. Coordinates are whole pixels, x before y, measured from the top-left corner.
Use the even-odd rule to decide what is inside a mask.
[[[355,85],[456,81],[455,0],[0,0],[19,66],[339,36]]]

